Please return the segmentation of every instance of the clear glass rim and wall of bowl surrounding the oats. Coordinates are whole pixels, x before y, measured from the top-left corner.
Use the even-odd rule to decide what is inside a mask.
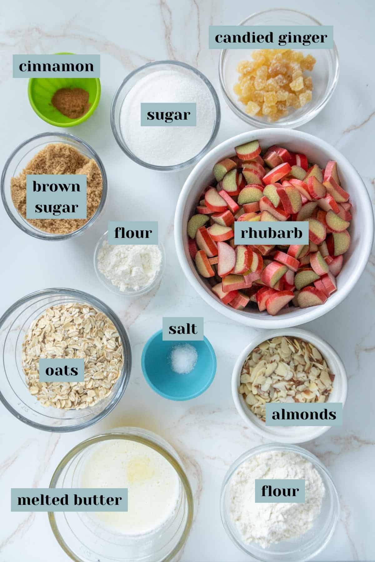
[[[105,302],[101,301],[100,299],[94,297],[92,294],[85,293],[83,291],[78,291],[76,289],[68,289],[68,288],[50,288],[50,289],[43,289],[42,291],[35,291],[33,293],[27,294],[25,297],[20,298],[15,303],[12,304],[1,316],[0,318],[0,330],[2,329],[3,325],[6,323],[9,316],[14,312],[19,306],[22,306],[28,303],[35,297],[48,297],[52,296],[53,294],[59,294],[61,296],[68,296],[74,300],[74,297],[77,297],[80,300],[85,300],[92,304],[94,307],[97,307],[99,310],[102,310],[108,318],[114,323],[116,329],[121,338],[121,343],[123,345],[123,355],[124,355],[124,363],[123,369],[121,370],[121,385],[117,391],[117,393],[112,397],[110,403],[103,409],[99,414],[94,416],[94,418],[87,420],[86,422],[80,422],[74,426],[64,427],[64,426],[52,426],[46,424],[40,424],[38,422],[34,422],[26,418],[22,415],[19,411],[15,410],[13,406],[11,406],[6,398],[3,396],[3,393],[0,391],[0,401],[6,407],[6,409],[15,416],[16,419],[20,420],[20,422],[25,423],[26,425],[30,425],[35,429],[40,429],[42,431],[48,431],[51,433],[70,433],[73,431],[78,431],[80,429],[85,429],[90,425],[93,425],[97,422],[100,422],[105,416],[107,416],[114,407],[118,404],[120,398],[123,396],[126,387],[128,386],[128,382],[130,379],[130,373],[132,370],[132,350],[130,348],[130,341],[126,330],[121,323],[121,320],[115,314],[109,306],[106,305]]]

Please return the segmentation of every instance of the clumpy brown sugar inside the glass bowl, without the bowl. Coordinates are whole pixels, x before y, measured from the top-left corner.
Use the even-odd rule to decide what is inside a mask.
[[[28,174],[84,174],[87,176],[86,219],[26,219],[26,175]],[[87,223],[97,210],[103,191],[101,171],[94,160],[64,143],[47,144],[22,170],[11,178],[12,201],[19,214],[29,224],[50,234],[69,234]]]

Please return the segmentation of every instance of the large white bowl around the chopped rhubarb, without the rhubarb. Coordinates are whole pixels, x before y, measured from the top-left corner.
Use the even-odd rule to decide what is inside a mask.
[[[341,185],[350,194],[353,215],[349,232],[351,244],[344,256],[344,266],[337,277],[337,291],[333,293],[324,305],[307,309],[290,307],[284,309],[277,316],[270,316],[267,312],[235,310],[224,305],[211,291],[210,285],[200,277],[195,269],[188,250],[187,221],[193,214],[200,194],[213,179],[213,166],[219,160],[234,154],[234,147],[239,144],[258,139],[262,148],[272,144],[304,153],[309,161],[320,167],[325,167],[328,160],[336,160]],[[360,175],[349,161],[342,156],[335,147],[325,140],[292,129],[258,129],[249,133],[242,133],[219,144],[211,150],[189,174],[178,198],[175,219],[174,238],[178,259],[182,270],[189,282],[204,300],[215,310],[228,316],[231,320],[241,322],[254,328],[288,328],[304,324],[326,314],[335,308],[349,294],[360,278],[371,252],[374,237],[374,220],[372,205],[367,189]]]

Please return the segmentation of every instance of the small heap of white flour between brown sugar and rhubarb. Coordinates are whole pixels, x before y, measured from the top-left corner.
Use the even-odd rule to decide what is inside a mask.
[[[98,251],[98,270],[120,291],[138,291],[152,283],[161,267],[156,244],[111,245],[105,240]]]

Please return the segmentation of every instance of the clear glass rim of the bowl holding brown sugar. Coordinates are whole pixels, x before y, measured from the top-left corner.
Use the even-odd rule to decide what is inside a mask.
[[[6,200],[6,196],[5,196],[5,191],[7,189],[7,186],[5,185],[5,178],[6,178],[6,174],[8,171],[8,168],[11,164],[11,161],[13,160],[13,158],[17,155],[17,153],[24,148],[27,144],[29,144],[30,142],[33,142],[34,140],[37,139],[42,139],[42,138],[47,138],[47,137],[60,137],[61,139],[70,139],[70,140],[75,140],[75,142],[77,142],[78,144],[82,144],[89,153],[92,154],[92,158],[96,161],[100,172],[102,174],[102,182],[103,182],[103,189],[102,189],[102,197],[100,200],[100,203],[98,205],[97,210],[94,212],[93,216],[87,221],[87,223],[85,223],[83,226],[81,226],[81,228],[79,228],[78,230],[74,230],[74,232],[69,232],[68,234],[56,234],[56,235],[47,235],[46,233],[43,233],[42,230],[28,230],[26,228],[26,226],[22,223],[21,218],[19,220],[17,220],[17,218],[15,216],[13,216],[7,200]],[[10,188],[10,186],[8,186]],[[5,165],[3,167],[3,171],[1,174],[1,199],[4,205],[4,209],[7,212],[7,215],[10,217],[11,221],[18,226],[18,228],[20,228],[23,232],[25,232],[26,234],[29,234],[29,236],[32,236],[34,238],[38,238],[40,240],[48,240],[48,241],[56,241],[56,240],[66,240],[69,238],[73,238],[74,236],[77,236],[78,234],[81,234],[82,232],[84,232],[84,230],[86,230],[87,228],[89,228],[89,226],[91,226],[94,221],[96,221],[97,217],[100,215],[106,199],[107,199],[107,192],[108,192],[108,183],[107,183],[107,174],[105,171],[105,168],[103,166],[103,162],[101,161],[100,157],[98,156],[97,152],[94,151],[94,149],[87,144],[87,142],[85,142],[84,140],[80,139],[79,137],[76,137],[75,135],[71,134],[71,133],[58,133],[58,132],[50,132],[50,133],[39,133],[37,135],[34,135],[34,137],[31,137],[29,139],[24,140],[24,142],[22,142],[21,144],[19,144],[19,146],[17,146],[13,152],[11,153],[11,155],[7,158],[7,161],[5,162]],[[15,209],[16,210],[16,209]],[[16,213],[18,215],[18,212],[16,210]],[[33,228],[30,225],[30,229]]]

